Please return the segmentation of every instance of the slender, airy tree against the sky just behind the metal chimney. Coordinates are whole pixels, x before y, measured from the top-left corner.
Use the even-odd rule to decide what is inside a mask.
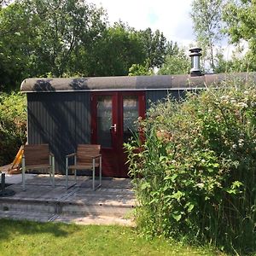
[[[194,0],[191,17],[194,23],[196,39],[204,50],[207,61],[214,71],[214,48],[222,39],[222,0]]]

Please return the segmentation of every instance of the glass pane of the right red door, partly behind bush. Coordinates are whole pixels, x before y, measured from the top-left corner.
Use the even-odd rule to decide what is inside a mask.
[[[137,131],[135,121],[138,118],[138,97],[124,96],[123,97],[123,111],[124,111],[124,143],[128,142],[133,131]]]

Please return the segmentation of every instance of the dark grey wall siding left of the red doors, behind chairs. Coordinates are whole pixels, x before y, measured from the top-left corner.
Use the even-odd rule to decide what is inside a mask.
[[[90,93],[28,93],[28,143],[49,143],[56,170],[65,172],[65,155],[90,143]]]

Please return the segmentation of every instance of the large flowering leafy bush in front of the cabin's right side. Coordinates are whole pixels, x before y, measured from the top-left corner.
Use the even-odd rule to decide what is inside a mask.
[[[141,230],[255,250],[255,86],[222,84],[183,102],[167,98],[139,122],[144,143],[135,138],[125,148]]]

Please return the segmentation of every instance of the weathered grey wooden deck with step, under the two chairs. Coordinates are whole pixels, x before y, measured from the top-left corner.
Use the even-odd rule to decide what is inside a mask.
[[[49,175],[26,174],[26,191],[22,191],[21,174],[6,174],[8,189],[15,195],[0,197],[0,218],[133,225],[129,217],[136,200],[130,179],[106,177],[93,191],[90,177],[79,176],[76,185],[72,178],[66,189],[65,176],[56,175],[52,188]]]

